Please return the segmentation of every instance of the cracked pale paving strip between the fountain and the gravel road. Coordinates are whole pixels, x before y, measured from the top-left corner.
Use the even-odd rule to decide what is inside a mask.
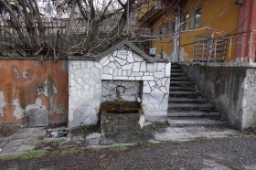
[[[56,128],[56,130],[58,129],[61,128]],[[139,141],[147,143],[163,143],[165,141],[185,142],[195,141],[201,138],[223,138],[240,134],[238,131],[229,129],[227,127],[170,127],[165,123],[161,123],[160,125],[149,123],[141,133],[112,135],[113,137],[107,140],[105,139],[106,137],[101,133],[89,133],[86,136],[78,134],[74,136],[70,134],[67,137],[45,138],[40,140],[40,136],[46,137],[47,131],[48,130],[45,128],[23,128],[11,136],[0,137],[0,148],[2,149],[0,155],[19,154],[22,152],[31,151],[34,150],[37,143],[48,143],[56,140],[62,140],[65,142],[70,141],[74,143],[88,142],[89,145],[87,148],[102,148],[118,144],[133,145]],[[54,131],[54,129],[51,129],[51,131]],[[103,142],[104,144],[102,144]]]

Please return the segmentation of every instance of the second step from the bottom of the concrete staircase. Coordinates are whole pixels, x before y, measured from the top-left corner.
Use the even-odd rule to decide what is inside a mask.
[[[220,116],[219,112],[199,112],[199,111],[180,111],[168,112],[169,117],[203,117],[203,116]]]

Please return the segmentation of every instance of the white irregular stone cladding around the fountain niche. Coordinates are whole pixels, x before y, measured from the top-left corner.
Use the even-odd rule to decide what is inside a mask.
[[[124,49],[115,50],[99,61],[69,60],[69,128],[98,122],[102,80],[141,81],[145,119],[165,119],[170,67],[170,63],[151,63],[132,50]]]

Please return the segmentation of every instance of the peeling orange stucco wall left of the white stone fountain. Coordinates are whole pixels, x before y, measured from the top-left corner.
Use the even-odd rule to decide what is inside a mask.
[[[67,61],[0,60],[0,124],[27,123],[26,112],[44,107],[49,122],[67,122]]]

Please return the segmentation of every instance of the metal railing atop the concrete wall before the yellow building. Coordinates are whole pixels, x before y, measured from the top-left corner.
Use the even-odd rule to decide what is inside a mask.
[[[192,58],[184,62],[256,62],[256,30],[228,35],[212,32],[197,35],[195,39],[192,43],[179,46],[193,48]]]

